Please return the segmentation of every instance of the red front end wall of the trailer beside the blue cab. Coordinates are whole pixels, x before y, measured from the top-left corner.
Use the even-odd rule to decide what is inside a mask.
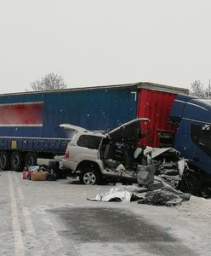
[[[137,117],[151,120],[145,123],[143,132],[149,134],[141,143],[153,148],[173,146],[177,127],[168,122],[169,114],[177,95],[188,94],[188,90],[149,83],[140,83],[138,89]]]

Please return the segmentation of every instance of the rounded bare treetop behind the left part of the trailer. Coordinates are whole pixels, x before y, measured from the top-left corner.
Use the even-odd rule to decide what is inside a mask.
[[[67,87],[64,79],[55,73],[48,73],[41,80],[36,80],[30,85],[32,90],[60,90]]]

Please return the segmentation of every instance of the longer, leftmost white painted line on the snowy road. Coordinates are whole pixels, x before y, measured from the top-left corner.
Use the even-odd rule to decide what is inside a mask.
[[[9,196],[11,201],[15,255],[24,256],[25,249],[24,249],[24,244],[23,244],[21,231],[20,231],[20,221],[18,217],[17,202],[14,196],[14,183],[11,177],[11,172],[9,173]]]

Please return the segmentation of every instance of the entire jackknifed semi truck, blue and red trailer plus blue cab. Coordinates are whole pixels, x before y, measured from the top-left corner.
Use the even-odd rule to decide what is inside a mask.
[[[130,119],[151,119],[141,143],[174,146],[189,160],[197,179],[211,180],[211,102],[188,90],[152,83],[0,95],[0,168],[21,171],[37,157],[65,154],[70,134],[60,124],[111,130]],[[143,131],[143,132],[145,132]]]

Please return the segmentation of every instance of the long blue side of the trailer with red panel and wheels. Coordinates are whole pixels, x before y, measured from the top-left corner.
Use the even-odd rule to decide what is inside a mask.
[[[37,157],[65,154],[62,123],[106,130],[136,117],[137,84],[0,95],[0,168],[21,171]]]

